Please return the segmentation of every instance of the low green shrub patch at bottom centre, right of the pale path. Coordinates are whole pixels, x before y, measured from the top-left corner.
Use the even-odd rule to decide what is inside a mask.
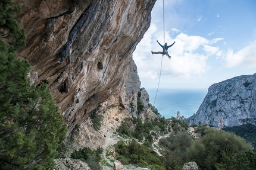
[[[114,147],[117,159],[124,165],[132,163],[141,167],[152,166],[160,167],[161,169],[164,168],[161,156],[154,152],[152,147],[148,145],[140,145],[135,140],[130,141],[129,144],[126,145],[124,141],[120,140]]]

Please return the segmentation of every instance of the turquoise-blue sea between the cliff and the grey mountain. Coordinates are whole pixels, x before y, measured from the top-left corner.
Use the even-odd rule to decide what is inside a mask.
[[[207,94],[207,89],[158,89],[158,93],[157,89],[146,91],[149,94],[149,102],[153,105],[155,101],[155,108],[165,118],[176,117],[178,111],[181,116],[192,116]]]

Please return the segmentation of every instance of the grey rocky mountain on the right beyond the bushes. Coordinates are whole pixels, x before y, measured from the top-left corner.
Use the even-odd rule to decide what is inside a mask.
[[[189,123],[232,127],[255,124],[256,73],[237,76],[213,84],[196,114],[186,119]]]

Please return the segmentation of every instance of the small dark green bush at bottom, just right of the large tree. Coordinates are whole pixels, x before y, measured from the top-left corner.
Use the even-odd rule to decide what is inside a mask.
[[[99,161],[101,161],[102,151],[101,147],[98,147],[97,150],[91,150],[89,147],[84,147],[83,149],[74,150],[74,152],[71,153],[71,158],[80,159],[81,161],[88,163],[90,169],[98,170],[101,169]]]

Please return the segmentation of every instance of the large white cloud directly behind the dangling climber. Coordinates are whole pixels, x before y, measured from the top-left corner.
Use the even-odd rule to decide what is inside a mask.
[[[185,33],[180,33],[176,37],[170,37],[170,35],[171,31],[166,34],[166,42],[171,44],[175,40],[176,43],[168,49],[171,60],[168,60],[167,56],[163,57],[161,79],[200,76],[210,69],[207,63],[208,57],[213,54],[221,55],[218,47],[211,46],[213,42],[221,38],[207,40],[201,36],[188,36]],[[157,40],[163,44],[163,33],[156,24],[151,23],[151,27],[133,53],[139,77],[148,84],[157,82],[159,78],[162,55],[151,54],[151,50],[153,52],[162,51]]]

